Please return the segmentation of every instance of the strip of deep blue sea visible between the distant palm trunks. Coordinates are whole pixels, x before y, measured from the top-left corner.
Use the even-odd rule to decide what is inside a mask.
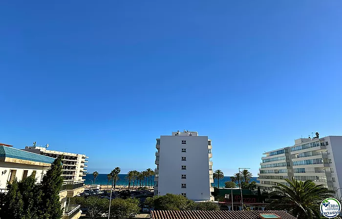
[[[125,179],[125,177],[126,177],[126,174],[119,174],[120,180],[117,181],[116,185],[128,185],[128,181]],[[252,177],[251,181],[256,181],[258,183],[256,178],[257,177]],[[86,185],[92,184],[91,180],[94,180],[93,175],[92,174],[87,174],[85,176],[85,184]],[[220,187],[224,187],[224,182],[230,181],[230,180],[231,180],[230,176],[224,176],[223,179],[219,180]],[[97,176],[97,178],[95,179],[95,183],[94,184],[97,184],[97,185],[107,185],[107,182],[108,182],[107,174],[99,174]],[[151,183],[151,181],[150,181],[150,183]],[[130,184],[133,185],[133,181]],[[111,181],[109,182],[109,185],[111,185]],[[139,185],[139,181],[138,181],[138,185]],[[154,185],[154,176],[152,176],[152,185]],[[217,179],[214,179],[214,183],[212,183],[212,186],[217,186]]]

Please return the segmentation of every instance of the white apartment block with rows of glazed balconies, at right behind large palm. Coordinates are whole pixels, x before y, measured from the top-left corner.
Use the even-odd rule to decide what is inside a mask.
[[[285,183],[285,178],[313,180],[334,190],[341,197],[342,136],[299,138],[295,145],[264,153],[260,163],[260,189],[273,191],[273,185]]]

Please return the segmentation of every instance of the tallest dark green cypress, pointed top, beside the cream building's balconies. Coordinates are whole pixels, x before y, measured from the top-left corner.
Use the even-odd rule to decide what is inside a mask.
[[[42,204],[41,209],[43,215],[40,219],[61,219],[63,215],[63,209],[61,208],[61,202],[59,193],[62,189],[64,182],[62,175],[63,156],[58,156],[51,164],[50,169],[43,176],[41,182],[42,189]]]

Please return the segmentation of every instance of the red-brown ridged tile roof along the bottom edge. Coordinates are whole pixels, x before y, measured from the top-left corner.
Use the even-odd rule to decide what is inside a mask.
[[[276,214],[296,219],[284,211],[151,211],[151,219],[260,219],[260,214]]]

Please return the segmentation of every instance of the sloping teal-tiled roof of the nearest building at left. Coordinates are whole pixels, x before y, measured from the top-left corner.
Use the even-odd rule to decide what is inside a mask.
[[[37,153],[31,153],[31,152],[26,152],[22,151],[16,148],[11,148],[11,147],[6,147],[0,145],[0,158],[2,161],[6,161],[6,158],[15,158],[15,159],[20,159],[20,160],[27,160],[27,161],[33,161],[33,162],[40,162],[40,163],[46,163],[46,164],[51,164],[55,159],[40,155]],[[9,161],[11,162],[11,161]]]

